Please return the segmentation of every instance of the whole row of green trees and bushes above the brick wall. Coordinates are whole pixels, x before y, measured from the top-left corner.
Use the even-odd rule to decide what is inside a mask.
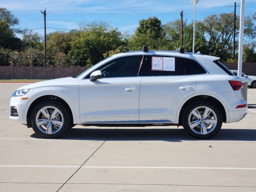
[[[232,59],[233,14],[209,15],[196,22],[195,51],[218,56],[222,62]],[[239,18],[236,18],[236,53],[238,52]],[[176,50],[181,44],[180,20],[162,25],[156,17],[140,20],[134,34],[121,34],[105,22],[82,24],[69,32],[47,34],[47,66],[91,66],[99,61],[131,50]],[[256,13],[244,21],[244,62],[256,62]],[[0,8],[0,65],[43,66],[44,38],[27,28],[15,26],[18,19],[6,8]],[[192,52],[193,22],[183,23],[184,48]],[[15,33],[22,33],[22,40]]]

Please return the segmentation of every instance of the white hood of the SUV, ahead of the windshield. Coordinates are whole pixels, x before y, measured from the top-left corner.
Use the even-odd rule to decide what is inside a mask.
[[[16,90],[32,89],[32,88],[46,87],[46,86],[75,86],[75,85],[78,86],[79,82],[80,82],[80,79],[65,77],[65,78],[52,79],[52,80],[46,80],[46,81],[40,81],[40,82],[28,84]]]

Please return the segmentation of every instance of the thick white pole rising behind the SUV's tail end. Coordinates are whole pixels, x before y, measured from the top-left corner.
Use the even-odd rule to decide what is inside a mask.
[[[238,77],[242,77],[243,43],[244,43],[244,0],[241,0],[239,47],[238,47]]]

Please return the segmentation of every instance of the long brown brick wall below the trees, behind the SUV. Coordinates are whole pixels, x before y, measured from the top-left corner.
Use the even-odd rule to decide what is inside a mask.
[[[230,70],[237,70],[236,63],[224,63]],[[78,76],[89,67],[34,67],[34,66],[0,66],[0,79],[56,79]],[[243,63],[243,70],[247,75],[256,75],[256,62]]]

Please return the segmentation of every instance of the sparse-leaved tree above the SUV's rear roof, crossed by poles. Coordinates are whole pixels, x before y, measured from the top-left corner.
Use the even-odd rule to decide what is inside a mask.
[[[202,50],[203,53],[218,56],[224,61],[231,58],[233,48],[233,21],[234,16],[232,13],[224,13],[219,16],[213,14],[207,16],[202,22],[197,22],[197,32],[202,37],[202,44],[206,45],[206,49]],[[238,40],[239,18],[236,19],[236,22],[236,39]],[[255,38],[254,28],[255,25],[252,18],[245,17],[245,42],[246,40]]]

